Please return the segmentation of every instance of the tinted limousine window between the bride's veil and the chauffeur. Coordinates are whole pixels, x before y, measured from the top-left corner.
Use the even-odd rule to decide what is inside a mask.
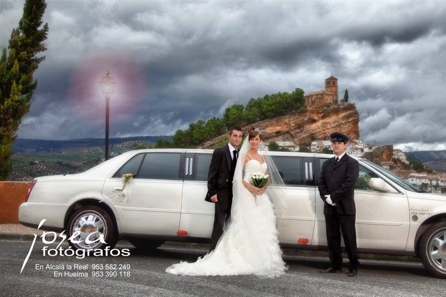
[[[302,157],[273,156],[285,185],[303,185]]]

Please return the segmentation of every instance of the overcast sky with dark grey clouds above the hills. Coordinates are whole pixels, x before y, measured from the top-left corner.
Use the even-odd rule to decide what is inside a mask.
[[[338,78],[360,137],[446,149],[446,4],[430,1],[55,1],[19,138],[173,135],[265,94]],[[24,1],[0,0],[0,47]]]

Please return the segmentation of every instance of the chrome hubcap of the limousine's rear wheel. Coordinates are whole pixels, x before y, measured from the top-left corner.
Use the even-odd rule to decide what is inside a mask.
[[[81,248],[90,249],[90,248],[96,248],[98,247],[101,242],[98,240],[94,243],[87,244],[85,242],[85,239],[90,235],[89,240],[95,241],[97,240],[101,235],[104,236],[107,232],[107,228],[104,224],[104,218],[100,216],[96,212],[86,212],[82,214],[80,217],[76,219],[76,221],[73,224],[72,233],[79,231],[80,234],[74,238],[75,241],[81,241],[80,243],[76,244]]]

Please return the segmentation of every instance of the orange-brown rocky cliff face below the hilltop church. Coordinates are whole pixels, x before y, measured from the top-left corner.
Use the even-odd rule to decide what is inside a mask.
[[[359,139],[359,112],[354,103],[341,103],[249,124],[242,127],[243,132],[252,126],[262,129],[265,144],[270,141],[292,141],[295,145],[308,147],[314,140],[329,140],[330,134],[336,131],[351,139]],[[223,134],[203,143],[199,148],[218,147],[225,138]]]

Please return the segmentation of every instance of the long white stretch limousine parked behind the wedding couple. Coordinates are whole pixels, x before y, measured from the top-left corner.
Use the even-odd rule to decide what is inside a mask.
[[[286,210],[278,217],[282,247],[327,249],[323,200],[317,184],[329,154],[268,152],[286,185]],[[19,220],[80,239],[97,231],[109,246],[126,239],[135,247],[165,241],[209,242],[214,204],[204,200],[212,150],[140,149],[125,152],[83,173],[34,179]],[[355,187],[358,252],[421,257],[446,278],[446,196],[421,193],[390,171],[359,161]],[[132,173],[130,195],[119,195],[121,176]],[[104,248],[96,242],[73,248]]]

